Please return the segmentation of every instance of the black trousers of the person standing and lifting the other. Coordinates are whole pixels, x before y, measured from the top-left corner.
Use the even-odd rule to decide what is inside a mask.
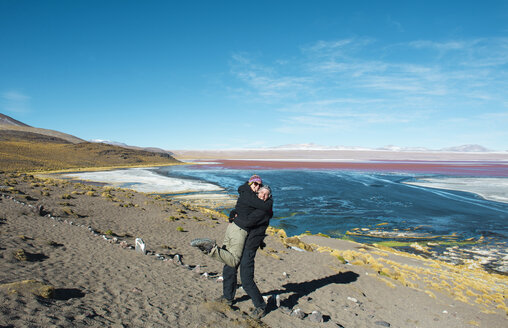
[[[258,247],[246,247],[243,250],[242,259],[240,260],[240,278],[242,279],[242,287],[252,299],[255,307],[265,307],[265,301],[259,292],[258,286],[254,282],[254,258]],[[232,268],[225,265],[222,272],[224,281],[222,284],[223,295],[228,300],[234,300],[236,294],[238,267]]]

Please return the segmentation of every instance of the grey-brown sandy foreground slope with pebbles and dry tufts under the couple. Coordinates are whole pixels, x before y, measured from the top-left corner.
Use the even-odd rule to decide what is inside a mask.
[[[227,222],[219,213],[130,190],[23,175],[0,175],[0,194],[0,327],[508,325],[506,289],[491,305],[429,293],[423,285],[341,261],[318,247],[370,252],[402,266],[424,268],[423,259],[381,255],[317,236],[302,237],[314,251],[301,251],[288,248],[278,235],[267,237],[256,257],[258,286],[306,317],[284,313],[272,297],[269,313],[256,321],[247,315],[252,303],[241,289],[233,308],[213,301],[221,295],[222,266],[189,246],[196,237],[222,239]],[[144,240],[148,255],[130,248],[135,238]],[[53,295],[43,298],[7,285],[28,279],[53,286]],[[500,288],[506,286],[506,277],[496,279]],[[324,322],[311,322],[313,311],[322,313]]]

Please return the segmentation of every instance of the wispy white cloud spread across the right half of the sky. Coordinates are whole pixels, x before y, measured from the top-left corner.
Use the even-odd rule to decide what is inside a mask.
[[[233,56],[231,72],[244,95],[283,113],[278,132],[474,122],[507,107],[508,38],[393,45],[350,38],[300,50],[271,64]]]

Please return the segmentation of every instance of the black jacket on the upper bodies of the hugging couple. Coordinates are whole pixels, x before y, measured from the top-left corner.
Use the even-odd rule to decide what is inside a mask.
[[[247,182],[238,187],[238,195],[234,210],[237,214],[237,217],[234,218],[235,224],[247,231],[258,226],[268,226],[273,215],[273,200],[271,198],[266,201],[259,199]]]

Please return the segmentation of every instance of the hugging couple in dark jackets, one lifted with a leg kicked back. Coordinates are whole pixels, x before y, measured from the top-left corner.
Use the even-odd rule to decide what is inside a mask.
[[[254,282],[254,258],[258,248],[263,247],[266,228],[273,216],[273,199],[270,187],[263,185],[258,175],[238,188],[238,200],[235,209],[229,215],[229,225],[222,247],[215,240],[199,238],[191,242],[205,254],[224,263],[223,295],[219,299],[232,305],[235,299],[237,272],[240,267],[242,287],[252,299],[256,319],[266,314],[266,302]]]

